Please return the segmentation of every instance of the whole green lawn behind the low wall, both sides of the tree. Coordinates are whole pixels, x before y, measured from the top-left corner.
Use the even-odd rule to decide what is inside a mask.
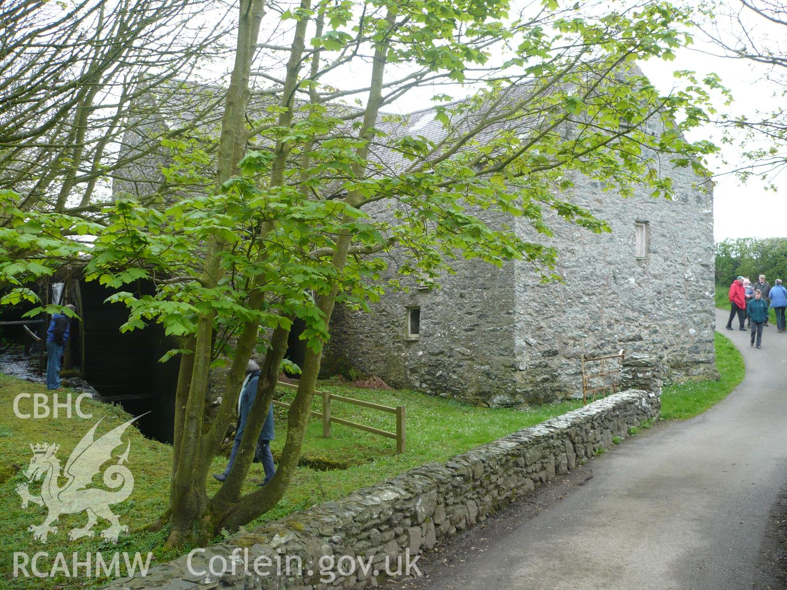
[[[423,463],[445,462],[451,456],[479,444],[538,424],[582,405],[582,401],[571,401],[528,411],[510,408],[488,409],[408,391],[384,392],[333,385],[327,387],[334,393],[361,400],[374,400],[388,406],[404,404],[407,408],[407,452],[404,455],[397,455],[396,444],[392,439],[336,424],[333,426],[331,439],[324,439],[321,436],[320,420],[312,419],[309,436],[305,442],[305,459],[314,463],[331,460],[334,463],[344,463],[348,467],[343,470],[328,471],[306,466],[299,468],[279,506],[251,525],[268,519],[281,518],[312,504],[338,499],[355,489],[393,477]],[[42,385],[0,374],[0,497],[3,499],[0,504],[2,506],[0,588],[38,590],[39,588],[91,588],[101,585],[101,580],[84,577],[79,579],[31,577],[15,580],[11,577],[13,551],[25,551],[29,555],[33,555],[35,551],[48,551],[51,555],[57,551],[64,551],[69,559],[75,551],[79,555],[84,555],[87,551],[105,551],[110,555],[114,551],[128,551],[132,554],[140,551],[146,555],[148,551],[153,551],[154,558],[160,561],[176,557],[173,552],[161,550],[161,545],[166,540],[165,530],[160,533],[121,535],[116,546],[101,540],[98,534],[93,538],[68,540],[70,529],[83,526],[87,522],[87,515],[84,512],[61,516],[60,521],[57,522],[59,529],[57,534],[50,534],[46,544],[33,540],[33,533],[28,531],[28,526],[39,525],[46,515],[46,509],[32,503],[27,509],[23,509],[20,496],[16,492],[17,485],[27,481],[23,470],[30,463],[32,456],[29,444],[60,444],[61,449],[57,452],[57,458],[61,460],[61,466],[65,467],[72,449],[99,418],[102,418],[102,422],[96,433],[97,438],[130,418],[120,407],[93,400],[87,400],[87,403],[83,404],[83,411],[87,408],[87,411],[93,413],[92,419],[67,419],[62,416],[58,419],[51,416],[46,419],[19,419],[14,415],[13,400],[17,394],[44,392]],[[21,409],[29,411],[30,405],[29,401],[23,403]],[[320,401],[316,400],[315,407],[319,409],[320,405]],[[339,418],[376,426],[382,430],[395,430],[393,415],[339,402],[334,402],[332,411],[333,415]],[[277,438],[273,444],[275,455],[280,451],[284,441],[285,424],[283,414],[277,411]],[[128,467],[134,475],[135,486],[129,499],[117,504],[113,510],[119,515],[120,523],[127,525],[133,531],[153,521],[167,506],[171,447],[148,440],[133,428],[126,431],[125,440],[131,441]],[[118,456],[124,450],[124,447],[119,447],[114,455]],[[213,472],[224,470],[225,464],[224,457],[217,457],[214,459]],[[254,464],[246,484],[247,489],[256,489],[257,481],[262,478],[261,466]],[[100,485],[98,476],[95,482]],[[61,485],[63,483],[64,481],[61,481]],[[210,480],[210,489],[217,489],[219,485],[219,482]],[[36,489],[35,485],[31,485],[31,492],[35,492]],[[98,532],[106,526],[107,523],[99,521],[94,529]],[[51,561],[46,563],[49,567],[52,566]],[[46,569],[46,566],[43,569]]]

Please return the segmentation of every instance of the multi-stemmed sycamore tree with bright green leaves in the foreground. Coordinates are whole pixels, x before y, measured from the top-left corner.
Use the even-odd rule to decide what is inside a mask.
[[[105,225],[75,226],[97,235],[86,276],[118,289],[111,299],[130,309],[124,329],[159,322],[183,337],[172,351],[180,361],[170,507],[156,524],[168,525],[170,546],[204,544],[283,498],[334,306],[367,308],[395,287],[383,280],[393,250],[398,273],[432,282],[456,258],[527,260],[549,272],[556,253],[505,219],[549,235],[552,211],[600,232],[603,220],[563,197],[578,179],[623,197],[644,184],[669,198],[672,167],[703,173],[714,148],[682,131],[708,116],[704,84],[685,74],[685,89],[663,96],[635,66],[671,59],[689,39],[686,17],[667,2],[240,2],[215,179],[168,208],[120,196],[103,211]],[[428,127],[391,114],[408,96],[432,105]],[[199,146],[178,149],[184,175],[205,161]],[[24,264],[47,264],[46,255],[17,197],[0,196],[16,232],[4,239],[28,240],[28,253],[39,254],[0,268],[16,272],[17,297],[32,297]],[[35,223],[49,224],[53,245],[73,229],[68,216]],[[139,279],[156,292],[124,287]],[[242,494],[295,319],[305,323],[307,352],[279,469]],[[218,332],[232,335],[220,351],[230,370],[206,422]],[[257,400],[229,477],[211,496],[212,458],[255,348],[264,353]]]

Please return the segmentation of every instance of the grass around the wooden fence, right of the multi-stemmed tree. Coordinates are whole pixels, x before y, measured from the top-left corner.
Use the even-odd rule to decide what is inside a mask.
[[[494,441],[582,406],[582,400],[578,400],[527,410],[490,409],[412,391],[379,391],[331,385],[324,385],[320,389],[391,407],[404,405],[407,408],[407,452],[397,455],[393,439],[337,424],[332,426],[332,437],[325,439],[322,437],[322,422],[312,419],[309,436],[304,444],[304,459],[314,459],[316,462],[328,459],[350,466],[344,470],[299,469],[295,485],[290,488],[286,499],[261,520],[280,518],[315,503],[341,498],[354,489],[390,478],[423,463],[445,462],[453,455],[479,444]],[[314,409],[320,410],[321,406],[322,402],[316,399]],[[331,411],[337,418],[390,432],[396,430],[392,414],[340,402],[333,402]],[[279,415],[278,409],[276,419],[277,424],[283,424],[283,415]],[[274,455],[284,444],[278,430],[277,437],[272,444]]]

